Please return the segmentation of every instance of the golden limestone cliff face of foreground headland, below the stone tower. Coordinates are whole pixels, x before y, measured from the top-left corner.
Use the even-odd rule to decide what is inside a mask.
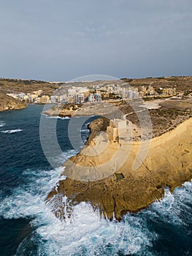
[[[164,187],[173,192],[192,178],[192,118],[150,142],[120,146],[100,133],[89,144],[64,163],[67,178],[47,197],[61,219],[66,217],[64,195],[71,206],[85,201],[104,217],[121,219],[127,211],[136,212],[160,200]],[[70,214],[72,208],[67,211]]]

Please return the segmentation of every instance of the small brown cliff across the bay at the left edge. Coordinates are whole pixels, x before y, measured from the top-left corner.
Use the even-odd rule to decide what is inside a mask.
[[[27,108],[26,102],[14,99],[6,94],[0,94],[0,111],[19,110],[22,108]]]

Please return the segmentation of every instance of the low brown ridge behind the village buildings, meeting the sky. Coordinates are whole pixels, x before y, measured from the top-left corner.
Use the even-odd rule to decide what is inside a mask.
[[[155,89],[159,87],[175,87],[176,91],[191,91],[192,92],[192,77],[191,76],[173,76],[169,78],[121,78],[120,80],[96,80],[86,82],[47,82],[42,80],[23,80],[12,78],[0,78],[0,92],[14,93],[14,92],[31,92],[42,90],[46,94],[51,94],[59,86],[96,86],[97,84],[105,86],[109,83],[119,83],[123,86],[130,85],[138,86],[153,86]]]

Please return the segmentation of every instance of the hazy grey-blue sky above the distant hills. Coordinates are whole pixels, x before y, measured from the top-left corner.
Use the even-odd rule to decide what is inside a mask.
[[[192,75],[191,0],[0,0],[0,77]]]

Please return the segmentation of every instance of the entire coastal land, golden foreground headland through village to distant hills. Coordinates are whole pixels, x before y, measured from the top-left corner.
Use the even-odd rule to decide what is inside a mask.
[[[160,200],[164,187],[173,192],[192,178],[191,80],[125,78],[99,81],[98,86],[98,81],[47,83],[2,78],[0,110],[27,108],[33,96],[37,104],[43,99],[44,103],[55,102],[53,108],[45,110],[48,116],[102,116],[88,125],[91,133],[84,148],[64,163],[66,179],[59,181],[47,201],[61,219],[70,216],[72,206],[81,202],[91,203],[104,217],[121,219],[128,211],[137,212]],[[80,91],[80,95],[73,94],[74,89],[85,95]],[[139,94],[142,99],[137,98]],[[85,96],[88,101],[82,100]],[[91,96],[95,102],[91,102]],[[117,109],[120,122],[128,124],[124,137],[112,124],[117,121],[110,113]],[[145,122],[145,113],[150,117],[151,130],[149,136],[142,137],[144,127],[138,116]]]

